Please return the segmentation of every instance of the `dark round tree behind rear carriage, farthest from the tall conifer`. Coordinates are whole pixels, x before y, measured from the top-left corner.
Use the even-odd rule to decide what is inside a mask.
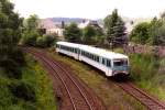
[[[64,35],[66,41],[79,43],[81,38],[81,30],[78,29],[76,23],[70,23],[68,26],[65,26]]]

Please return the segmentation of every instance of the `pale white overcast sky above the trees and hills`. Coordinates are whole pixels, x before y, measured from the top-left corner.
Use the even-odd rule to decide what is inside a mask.
[[[114,9],[122,16],[153,18],[165,10],[165,0],[10,0],[15,12],[28,18],[37,14],[41,19],[64,16],[103,19]]]

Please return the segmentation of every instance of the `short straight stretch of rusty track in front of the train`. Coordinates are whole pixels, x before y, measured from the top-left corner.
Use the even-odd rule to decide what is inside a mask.
[[[125,92],[134,97],[142,105],[144,105],[148,110],[165,110],[165,103],[158,101],[154,97],[147,95],[145,91],[135,87],[132,82],[116,82]]]

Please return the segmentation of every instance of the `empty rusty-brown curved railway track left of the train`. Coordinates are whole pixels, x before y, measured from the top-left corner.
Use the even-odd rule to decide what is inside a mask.
[[[69,102],[67,102],[68,110],[105,110],[105,107],[101,106],[98,99],[96,100],[96,98],[92,97],[94,95],[86,90],[84,85],[68,73],[69,70],[67,70],[66,67],[59,65],[43,52],[38,52],[34,48],[25,48],[25,51],[40,58],[44,65],[54,73],[52,76],[61,80],[67,99],[69,99]]]

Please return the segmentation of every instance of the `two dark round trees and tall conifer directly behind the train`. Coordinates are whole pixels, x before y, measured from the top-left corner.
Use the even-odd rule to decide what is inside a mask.
[[[88,24],[85,29],[79,29],[76,23],[65,28],[64,36],[66,41],[103,45],[117,47],[127,44],[127,33],[124,22],[114,9],[112,14],[105,18],[105,29],[99,25]]]

